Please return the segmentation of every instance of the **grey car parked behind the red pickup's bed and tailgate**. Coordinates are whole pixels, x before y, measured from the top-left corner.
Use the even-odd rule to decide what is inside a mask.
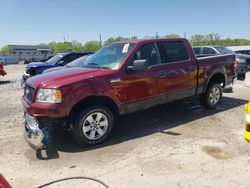
[[[224,47],[224,46],[195,46],[193,47],[194,53],[197,57],[206,57],[219,54],[232,54],[234,51]],[[244,76],[249,68],[250,70],[250,56],[244,54],[236,55],[236,75]]]

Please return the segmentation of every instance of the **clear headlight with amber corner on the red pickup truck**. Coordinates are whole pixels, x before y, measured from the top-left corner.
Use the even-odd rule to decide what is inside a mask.
[[[36,102],[43,103],[60,103],[62,93],[57,89],[39,89],[36,95]]]

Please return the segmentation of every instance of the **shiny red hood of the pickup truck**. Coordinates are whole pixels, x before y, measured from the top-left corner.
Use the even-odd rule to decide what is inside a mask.
[[[31,77],[27,84],[32,87],[59,88],[68,84],[110,74],[113,70],[93,68],[68,68]]]

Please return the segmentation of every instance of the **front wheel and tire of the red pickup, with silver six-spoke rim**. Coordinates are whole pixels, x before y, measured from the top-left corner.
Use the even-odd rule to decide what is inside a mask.
[[[114,126],[114,114],[105,106],[84,109],[73,123],[73,136],[80,145],[104,141]]]

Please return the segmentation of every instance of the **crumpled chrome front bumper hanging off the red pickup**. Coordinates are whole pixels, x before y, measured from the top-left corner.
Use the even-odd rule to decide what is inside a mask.
[[[44,146],[44,133],[39,128],[36,117],[25,113],[25,130],[24,137],[33,149],[39,149]]]

